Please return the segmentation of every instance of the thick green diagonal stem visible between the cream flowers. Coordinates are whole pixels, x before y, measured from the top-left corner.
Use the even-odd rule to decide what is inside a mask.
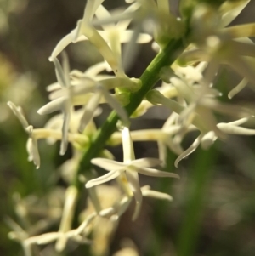
[[[130,103],[126,106],[127,114],[132,115],[133,111],[139,106],[144,96],[150,91],[155,83],[160,79],[159,72],[163,66],[169,66],[178,57],[178,54],[184,51],[185,45],[183,39],[173,39],[167,44],[166,48],[161,50],[159,54],[156,55],[154,60],[150,63],[147,69],[144,71],[140,80],[142,82],[142,87],[138,92],[130,96]],[[111,137],[116,131],[116,122],[119,117],[116,111],[112,111],[110,116],[105,121],[104,125],[99,128],[97,134],[94,135],[91,145],[84,151],[82,161],[77,170],[76,178],[74,179],[74,185],[77,186],[78,190],[81,190],[82,183],[79,181],[79,176],[83,172],[86,172],[90,168],[90,161],[92,158],[99,154],[106,143],[106,141]]]

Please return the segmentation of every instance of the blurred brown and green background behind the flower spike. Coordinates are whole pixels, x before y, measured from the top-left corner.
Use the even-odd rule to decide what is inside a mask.
[[[119,5],[123,1],[117,2]],[[177,1],[173,1],[176,3]],[[116,1],[106,0],[111,9]],[[59,145],[39,143],[42,166],[38,170],[27,161],[26,133],[9,111],[6,102],[22,106],[27,119],[39,128],[48,117],[37,115],[47,101],[45,88],[55,82],[54,66],[48,61],[56,43],[71,31],[82,17],[83,0],[1,0],[0,1],[0,193],[1,224],[0,254],[23,255],[20,244],[8,239],[9,224],[14,219],[21,226],[16,202],[27,196],[37,201],[65,183],[59,179],[59,165],[71,156],[59,156]],[[176,7],[174,8],[176,9]],[[254,21],[255,2],[252,1],[235,23]],[[85,70],[101,60],[89,43],[77,43],[67,49],[71,68]],[[140,48],[139,56],[128,71],[139,77],[155,53],[150,43]],[[225,96],[231,82],[241,77],[227,68],[218,73],[218,89]],[[237,82],[235,82],[236,84]],[[246,89],[235,102],[254,102],[254,92]],[[254,106],[254,103],[251,103]],[[105,109],[105,115],[109,110]],[[133,121],[133,129],[161,128],[169,114],[158,109]],[[161,116],[161,119],[157,117]],[[105,117],[105,116],[103,116]],[[101,122],[100,119],[97,121]],[[191,138],[192,139],[192,138]],[[190,139],[184,143],[189,145]],[[180,180],[144,178],[141,184],[170,193],[173,202],[144,199],[136,222],[131,221],[130,209],[122,217],[116,236],[111,242],[112,255],[123,238],[133,240],[139,255],[146,256],[253,256],[255,255],[255,139],[229,136],[218,141],[209,151],[199,149],[173,168],[176,156],[168,153],[168,170],[180,174]],[[156,143],[135,143],[137,157],[157,156]],[[122,158],[120,148],[111,149]],[[61,201],[62,199],[59,199]],[[55,226],[57,229],[57,225]],[[84,255],[86,247],[55,255]],[[41,255],[41,254],[38,254]],[[43,254],[46,255],[46,254]],[[89,255],[89,254],[86,254]]]

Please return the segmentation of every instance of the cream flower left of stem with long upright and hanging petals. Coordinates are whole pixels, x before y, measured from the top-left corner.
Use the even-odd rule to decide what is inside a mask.
[[[81,81],[77,83],[76,86],[71,85],[70,75],[69,75],[69,65],[67,56],[64,54],[63,69],[59,63],[59,60],[54,58],[54,65],[56,71],[56,77],[60,85],[60,89],[54,91],[51,94],[53,99],[47,105],[42,106],[38,110],[41,115],[49,114],[54,111],[62,111],[64,115],[64,122],[62,125],[62,141],[60,147],[60,155],[64,155],[68,145],[68,130],[71,120],[71,113],[73,112],[73,105],[81,105],[81,97],[84,100],[83,95],[90,93],[86,97],[85,101],[87,104],[84,108],[83,115],[80,121],[79,131],[82,133],[84,128],[87,126],[88,122],[94,117],[94,113],[99,105],[99,101],[102,96],[111,107],[116,110],[117,114],[122,118],[122,122],[129,125],[129,118],[127,117],[126,111],[122,106],[115,100],[115,98],[108,92],[108,88],[114,88],[117,86],[125,87],[127,86],[132,90],[136,88],[137,82],[133,82],[128,78],[111,78],[105,79],[101,82],[95,82],[89,77],[82,77]],[[104,86],[105,85],[105,86]],[[107,89],[105,89],[107,87]],[[59,88],[58,85],[54,85],[54,89]],[[51,88],[52,89],[52,88]],[[92,94],[94,93],[94,94]],[[92,95],[91,95],[92,94]],[[78,100],[77,98],[78,97]],[[79,98],[80,97],[80,98]]]

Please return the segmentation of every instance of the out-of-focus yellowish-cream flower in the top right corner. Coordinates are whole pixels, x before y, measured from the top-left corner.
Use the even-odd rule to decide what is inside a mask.
[[[207,61],[205,79],[213,77],[220,64],[230,65],[255,88],[255,45],[247,38],[255,35],[252,29],[254,25],[224,28],[241,13],[247,3],[249,1],[226,2],[218,12],[205,5],[198,6],[191,19],[194,45],[190,45],[179,60],[186,64]],[[208,80],[211,80],[210,78]],[[245,86],[246,82],[238,85],[234,94]]]

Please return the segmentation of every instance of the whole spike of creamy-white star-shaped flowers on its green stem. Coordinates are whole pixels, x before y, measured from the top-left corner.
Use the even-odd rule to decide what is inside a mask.
[[[216,139],[225,139],[228,134],[255,134],[254,129],[241,127],[252,119],[253,112],[222,102],[215,82],[220,66],[229,65],[242,77],[229,92],[229,98],[246,84],[254,88],[255,46],[248,37],[255,35],[255,24],[229,26],[249,1],[219,1],[213,5],[210,1],[196,1],[194,5],[192,1],[182,0],[180,17],[172,14],[167,0],[127,2],[124,11],[118,9],[111,14],[102,5],[103,0],[88,0],[82,20],[54,48],[49,60],[54,63],[57,82],[48,86],[50,101],[38,113],[58,111],[60,114],[52,117],[44,128],[33,128],[21,108],[8,102],[28,134],[29,160],[37,168],[40,167],[38,139],[51,143],[61,140],[60,155],[65,154],[69,143],[73,150],[73,157],[61,167],[69,187],[65,191],[59,230],[32,235],[24,231],[26,236],[18,236],[17,230],[11,233],[11,237],[19,237],[26,256],[31,255],[33,244],[56,242],[56,250],[63,251],[69,240],[90,243],[87,238],[90,233],[94,234],[92,247],[100,252],[97,255],[105,255],[108,238],[133,200],[133,220],[139,216],[143,196],[172,200],[165,193],[150,190],[148,185],[139,185],[139,174],[179,178],[178,174],[161,170],[167,148],[177,155],[177,167],[199,145],[207,149]],[[64,50],[70,43],[83,40],[94,44],[104,61],[84,72],[70,71]],[[127,68],[137,54],[137,44],[151,41],[158,52],[155,60],[140,79],[127,77]],[[161,86],[152,89],[160,79]],[[100,114],[99,105],[104,103],[113,112],[105,125],[97,128],[94,117]],[[154,105],[163,105],[171,111],[162,128],[130,131],[130,117],[142,116]],[[184,149],[184,137],[191,132],[198,136]],[[136,159],[133,141],[148,140],[157,141],[159,158]],[[118,144],[123,148],[122,162],[114,160],[104,149],[105,145]],[[93,166],[108,173],[95,177],[95,170],[90,172]],[[111,189],[116,192],[110,199],[99,196],[100,190],[104,190],[102,184],[113,179],[118,186]],[[81,214],[81,225],[73,229],[80,184],[88,189],[89,202]],[[105,242],[101,247],[96,247],[97,237]]]

